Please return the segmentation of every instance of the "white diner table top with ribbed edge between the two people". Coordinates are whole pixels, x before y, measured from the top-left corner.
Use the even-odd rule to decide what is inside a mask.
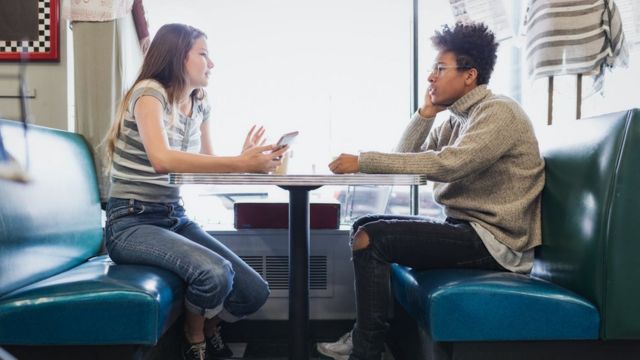
[[[425,175],[410,174],[318,174],[318,175],[269,175],[229,173],[170,173],[169,183],[216,185],[425,185]]]

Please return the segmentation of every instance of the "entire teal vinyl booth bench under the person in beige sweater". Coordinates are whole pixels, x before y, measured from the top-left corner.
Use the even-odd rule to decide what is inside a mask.
[[[546,183],[532,273],[393,264],[396,357],[640,357],[640,110],[538,135]]]

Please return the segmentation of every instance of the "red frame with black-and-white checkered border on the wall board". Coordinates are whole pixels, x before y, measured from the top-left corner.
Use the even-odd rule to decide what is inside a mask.
[[[26,50],[28,60],[58,60],[58,1],[38,0],[37,39],[0,39],[0,59],[19,60]]]

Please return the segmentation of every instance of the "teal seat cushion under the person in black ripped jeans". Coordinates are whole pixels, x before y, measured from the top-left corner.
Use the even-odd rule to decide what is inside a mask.
[[[435,341],[597,339],[600,316],[548,281],[484,270],[391,265],[395,298]]]

